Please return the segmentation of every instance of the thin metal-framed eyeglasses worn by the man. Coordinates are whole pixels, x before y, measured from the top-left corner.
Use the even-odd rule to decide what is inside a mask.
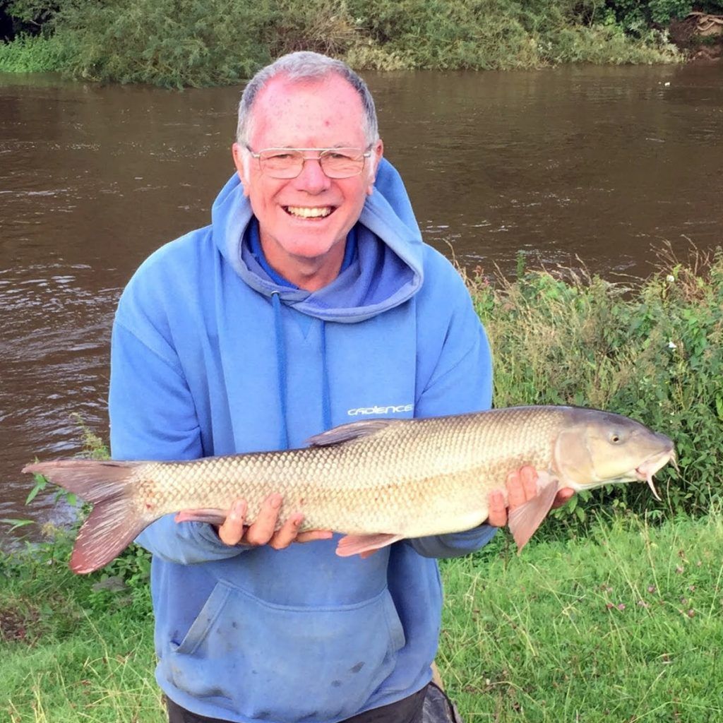
[[[322,171],[330,179],[348,179],[358,176],[364,162],[372,155],[372,147],[361,148],[264,148],[254,153],[246,150],[259,161],[263,174],[273,179],[295,179],[304,168],[305,161],[319,161]],[[318,153],[317,156],[304,153]]]

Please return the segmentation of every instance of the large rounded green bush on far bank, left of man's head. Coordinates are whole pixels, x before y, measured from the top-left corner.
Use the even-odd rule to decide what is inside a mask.
[[[89,80],[222,85],[270,61],[270,2],[69,0],[55,16],[66,69]]]

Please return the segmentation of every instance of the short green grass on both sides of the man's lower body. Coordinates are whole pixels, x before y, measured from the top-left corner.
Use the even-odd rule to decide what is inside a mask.
[[[500,539],[442,564],[438,663],[467,721],[723,719],[723,515],[589,539]],[[1,563],[0,719],[160,723],[147,597]],[[137,594],[135,594],[137,593]],[[711,684],[712,683],[712,684]],[[7,716],[7,717],[4,717]]]

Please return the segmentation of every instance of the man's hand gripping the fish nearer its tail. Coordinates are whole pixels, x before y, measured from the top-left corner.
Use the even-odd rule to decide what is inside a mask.
[[[289,515],[288,520],[280,529],[275,530],[278,513],[281,509],[281,495],[269,495],[261,505],[259,514],[250,525],[245,524],[248,505],[246,500],[236,500],[231,505],[231,513],[223,525],[217,527],[222,542],[229,545],[247,544],[253,547],[268,544],[274,549],[283,549],[292,542],[311,542],[312,540],[329,539],[330,530],[307,530],[299,532],[304,520],[300,512]]]

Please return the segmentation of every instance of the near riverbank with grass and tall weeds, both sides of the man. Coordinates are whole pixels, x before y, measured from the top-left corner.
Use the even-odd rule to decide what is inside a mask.
[[[663,254],[636,286],[524,268],[469,276],[497,359],[497,406],[578,403],[675,440],[680,471],[580,493],[523,555],[505,534],[442,562],[438,662],[468,721],[723,715],[723,251]],[[88,440],[98,450],[100,440]],[[73,576],[72,534],[0,554],[0,678],[12,723],[162,723],[149,557]]]

